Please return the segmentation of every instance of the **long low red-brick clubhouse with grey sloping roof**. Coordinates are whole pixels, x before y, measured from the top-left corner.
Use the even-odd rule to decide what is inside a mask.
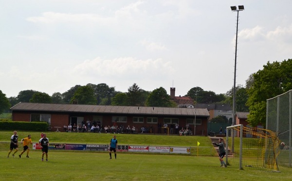
[[[193,134],[207,136],[207,121],[210,116],[207,109],[194,108],[164,108],[164,107],[137,107],[137,106],[99,106],[78,104],[41,104],[18,103],[12,110],[13,121],[47,122],[52,131],[64,125],[82,125],[88,120],[100,123],[102,127],[123,125],[140,128],[153,127],[153,133],[160,132],[158,124],[164,123],[170,127],[179,124],[189,127]],[[195,127],[196,126],[196,127]],[[195,129],[196,128],[196,129]],[[162,132],[162,131],[161,131]]]

